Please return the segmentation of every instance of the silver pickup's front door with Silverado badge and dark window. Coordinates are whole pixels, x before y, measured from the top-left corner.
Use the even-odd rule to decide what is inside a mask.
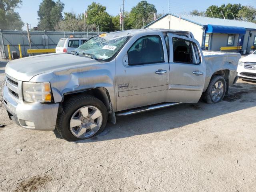
[[[140,37],[116,64],[117,111],[164,102],[169,63],[163,45],[163,36]]]

